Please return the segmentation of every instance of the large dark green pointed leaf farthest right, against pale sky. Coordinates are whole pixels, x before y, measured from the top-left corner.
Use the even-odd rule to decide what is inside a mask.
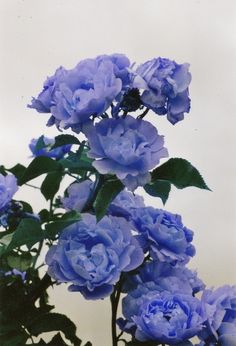
[[[172,158],[152,171],[152,182],[168,181],[178,189],[195,186],[210,190],[198,170],[190,162],[180,158]]]

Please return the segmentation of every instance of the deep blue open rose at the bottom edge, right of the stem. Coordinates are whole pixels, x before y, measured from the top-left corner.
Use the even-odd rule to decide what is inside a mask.
[[[131,333],[142,342],[176,345],[195,336],[206,319],[201,302],[191,294],[159,291],[148,284],[130,292],[122,306]]]

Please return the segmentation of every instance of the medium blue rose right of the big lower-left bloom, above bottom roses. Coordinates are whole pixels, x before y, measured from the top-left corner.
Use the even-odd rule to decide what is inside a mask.
[[[135,209],[132,220],[152,258],[177,265],[194,256],[193,232],[183,225],[180,215],[146,207]]]

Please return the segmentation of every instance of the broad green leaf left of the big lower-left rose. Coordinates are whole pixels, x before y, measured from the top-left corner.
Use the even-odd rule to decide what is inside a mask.
[[[43,238],[43,231],[38,221],[34,219],[23,219],[13,233],[7,250],[13,250],[21,245],[26,245],[28,248],[31,248],[34,244],[43,240]]]

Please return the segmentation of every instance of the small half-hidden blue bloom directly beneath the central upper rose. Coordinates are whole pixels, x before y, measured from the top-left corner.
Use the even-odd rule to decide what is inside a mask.
[[[109,206],[109,213],[113,216],[121,216],[130,219],[132,210],[145,207],[143,197],[123,190],[112,201]]]

